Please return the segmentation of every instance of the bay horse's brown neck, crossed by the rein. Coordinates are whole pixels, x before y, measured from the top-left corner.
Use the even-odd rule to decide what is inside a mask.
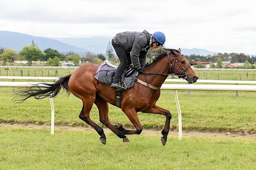
[[[168,57],[163,57],[159,59],[159,61],[156,61],[155,63],[146,67],[145,73],[170,73],[170,64],[168,61]],[[149,74],[146,75],[145,81],[156,87],[161,87],[167,77],[168,76],[165,75]]]

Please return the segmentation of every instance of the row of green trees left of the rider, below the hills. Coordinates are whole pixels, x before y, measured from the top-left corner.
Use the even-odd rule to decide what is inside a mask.
[[[113,58],[112,60],[114,61],[116,60],[110,42],[107,46],[106,56],[110,59]],[[24,46],[19,52],[15,49],[0,47],[0,63],[3,65],[13,65],[14,61],[27,61],[27,65],[31,66],[33,61],[43,61],[46,62],[48,66],[58,66],[60,61],[65,61],[73,62],[76,66],[79,66],[85,62],[100,64],[102,61],[105,61],[105,59],[104,54],[94,54],[91,52],[85,52],[81,57],[79,54],[72,51],[67,54],[60,53],[52,48],[47,48],[42,51],[34,41],[32,41],[30,46]]]

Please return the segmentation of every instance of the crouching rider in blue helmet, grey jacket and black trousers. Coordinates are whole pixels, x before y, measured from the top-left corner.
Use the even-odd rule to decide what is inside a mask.
[[[112,79],[111,87],[122,89],[120,78],[125,70],[125,67],[131,63],[139,73],[145,71],[146,53],[150,47],[157,48],[165,43],[165,35],[162,32],[150,34],[147,31],[143,32],[121,32],[117,33],[112,39],[120,64],[116,69],[116,73]]]

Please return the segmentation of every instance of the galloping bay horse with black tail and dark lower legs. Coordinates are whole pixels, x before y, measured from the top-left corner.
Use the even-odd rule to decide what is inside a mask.
[[[29,97],[42,99],[46,97],[55,97],[61,89],[80,98],[83,103],[79,118],[85,121],[100,135],[100,141],[106,144],[104,129],[90,119],[90,111],[93,103],[99,109],[100,122],[123,139],[123,142],[131,142],[126,137],[127,134],[140,134],[142,126],[137,116],[137,112],[163,114],[166,117],[165,126],[161,134],[161,142],[165,146],[171,121],[171,113],[156,105],[160,97],[160,87],[165,79],[170,76],[178,76],[188,83],[194,83],[198,79],[189,61],[181,54],[178,49],[162,48],[154,61],[147,63],[145,72],[137,74],[132,88],[122,91],[121,109],[129,118],[136,129],[125,129],[121,123],[111,124],[109,120],[109,103],[115,105],[116,89],[99,82],[94,75],[96,74],[98,64],[86,63],[67,76],[61,77],[55,83],[40,83],[45,87],[39,87],[39,84],[31,87],[22,87],[16,93],[16,102],[22,103]]]

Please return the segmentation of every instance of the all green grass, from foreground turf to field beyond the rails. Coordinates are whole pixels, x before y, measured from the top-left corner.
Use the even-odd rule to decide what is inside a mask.
[[[57,77],[68,74],[66,69],[63,70],[65,73],[61,75],[58,71]],[[201,79],[218,79],[219,72],[207,72],[207,77],[203,77],[203,72],[196,72],[200,73]],[[233,80],[240,80],[240,74],[242,80],[253,80],[254,74],[248,72],[248,79],[245,79],[245,72],[223,73],[219,74],[221,79]],[[6,76],[3,69],[2,76]],[[50,76],[55,76],[54,72]],[[235,92],[218,91],[191,91],[190,96],[186,91],[178,91],[178,94],[183,129],[256,133],[255,92],[239,92],[239,97],[235,97]],[[60,93],[53,102],[56,124],[88,127],[78,118],[82,109],[80,99],[72,94],[67,98],[65,93]],[[170,128],[178,129],[173,91],[161,91],[157,105],[172,113]],[[110,105],[109,110],[112,123],[122,122],[125,127],[133,128],[120,108]],[[163,128],[164,116],[138,114],[144,128]],[[96,106],[93,106],[90,116],[104,127]],[[50,124],[49,99],[30,98],[22,104],[14,104],[12,88],[0,88],[0,123]],[[177,134],[170,133],[166,146],[163,146],[160,131],[142,131],[140,135],[128,136],[131,143],[123,143],[112,132],[105,134],[106,145],[99,141],[100,136],[93,129],[55,129],[51,136],[48,128],[0,126],[0,169],[255,169],[256,166],[255,137],[183,134],[179,141]]]

